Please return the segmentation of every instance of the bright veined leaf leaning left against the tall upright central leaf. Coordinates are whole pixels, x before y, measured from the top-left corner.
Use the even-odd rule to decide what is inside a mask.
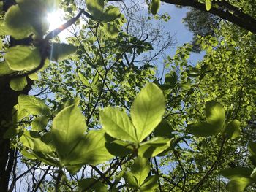
[[[129,142],[138,142],[135,128],[132,126],[126,112],[113,107],[105,107],[100,113],[103,129],[111,137]]]

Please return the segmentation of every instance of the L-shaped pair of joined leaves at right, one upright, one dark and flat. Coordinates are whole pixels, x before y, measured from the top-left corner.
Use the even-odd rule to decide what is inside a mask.
[[[192,123],[187,126],[189,132],[197,137],[208,137],[222,131],[225,123],[225,110],[216,101],[206,102],[206,122]]]

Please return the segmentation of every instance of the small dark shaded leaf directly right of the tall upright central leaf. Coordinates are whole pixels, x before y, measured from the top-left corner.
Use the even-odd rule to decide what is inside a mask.
[[[157,137],[168,137],[172,138],[173,128],[170,127],[170,124],[167,122],[167,120],[163,119],[159,125],[154,130],[154,135]]]

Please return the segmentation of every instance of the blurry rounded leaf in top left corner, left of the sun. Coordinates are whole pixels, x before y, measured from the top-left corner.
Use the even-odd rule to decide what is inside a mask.
[[[4,31],[15,39],[29,37],[34,28],[29,23],[29,16],[24,14],[18,5],[12,5],[6,13]]]

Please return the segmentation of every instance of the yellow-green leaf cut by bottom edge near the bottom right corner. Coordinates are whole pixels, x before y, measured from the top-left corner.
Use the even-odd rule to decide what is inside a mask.
[[[230,192],[241,192],[244,191],[244,189],[252,183],[252,180],[245,177],[239,177],[233,180],[230,180],[229,183],[227,183],[227,191]]]

